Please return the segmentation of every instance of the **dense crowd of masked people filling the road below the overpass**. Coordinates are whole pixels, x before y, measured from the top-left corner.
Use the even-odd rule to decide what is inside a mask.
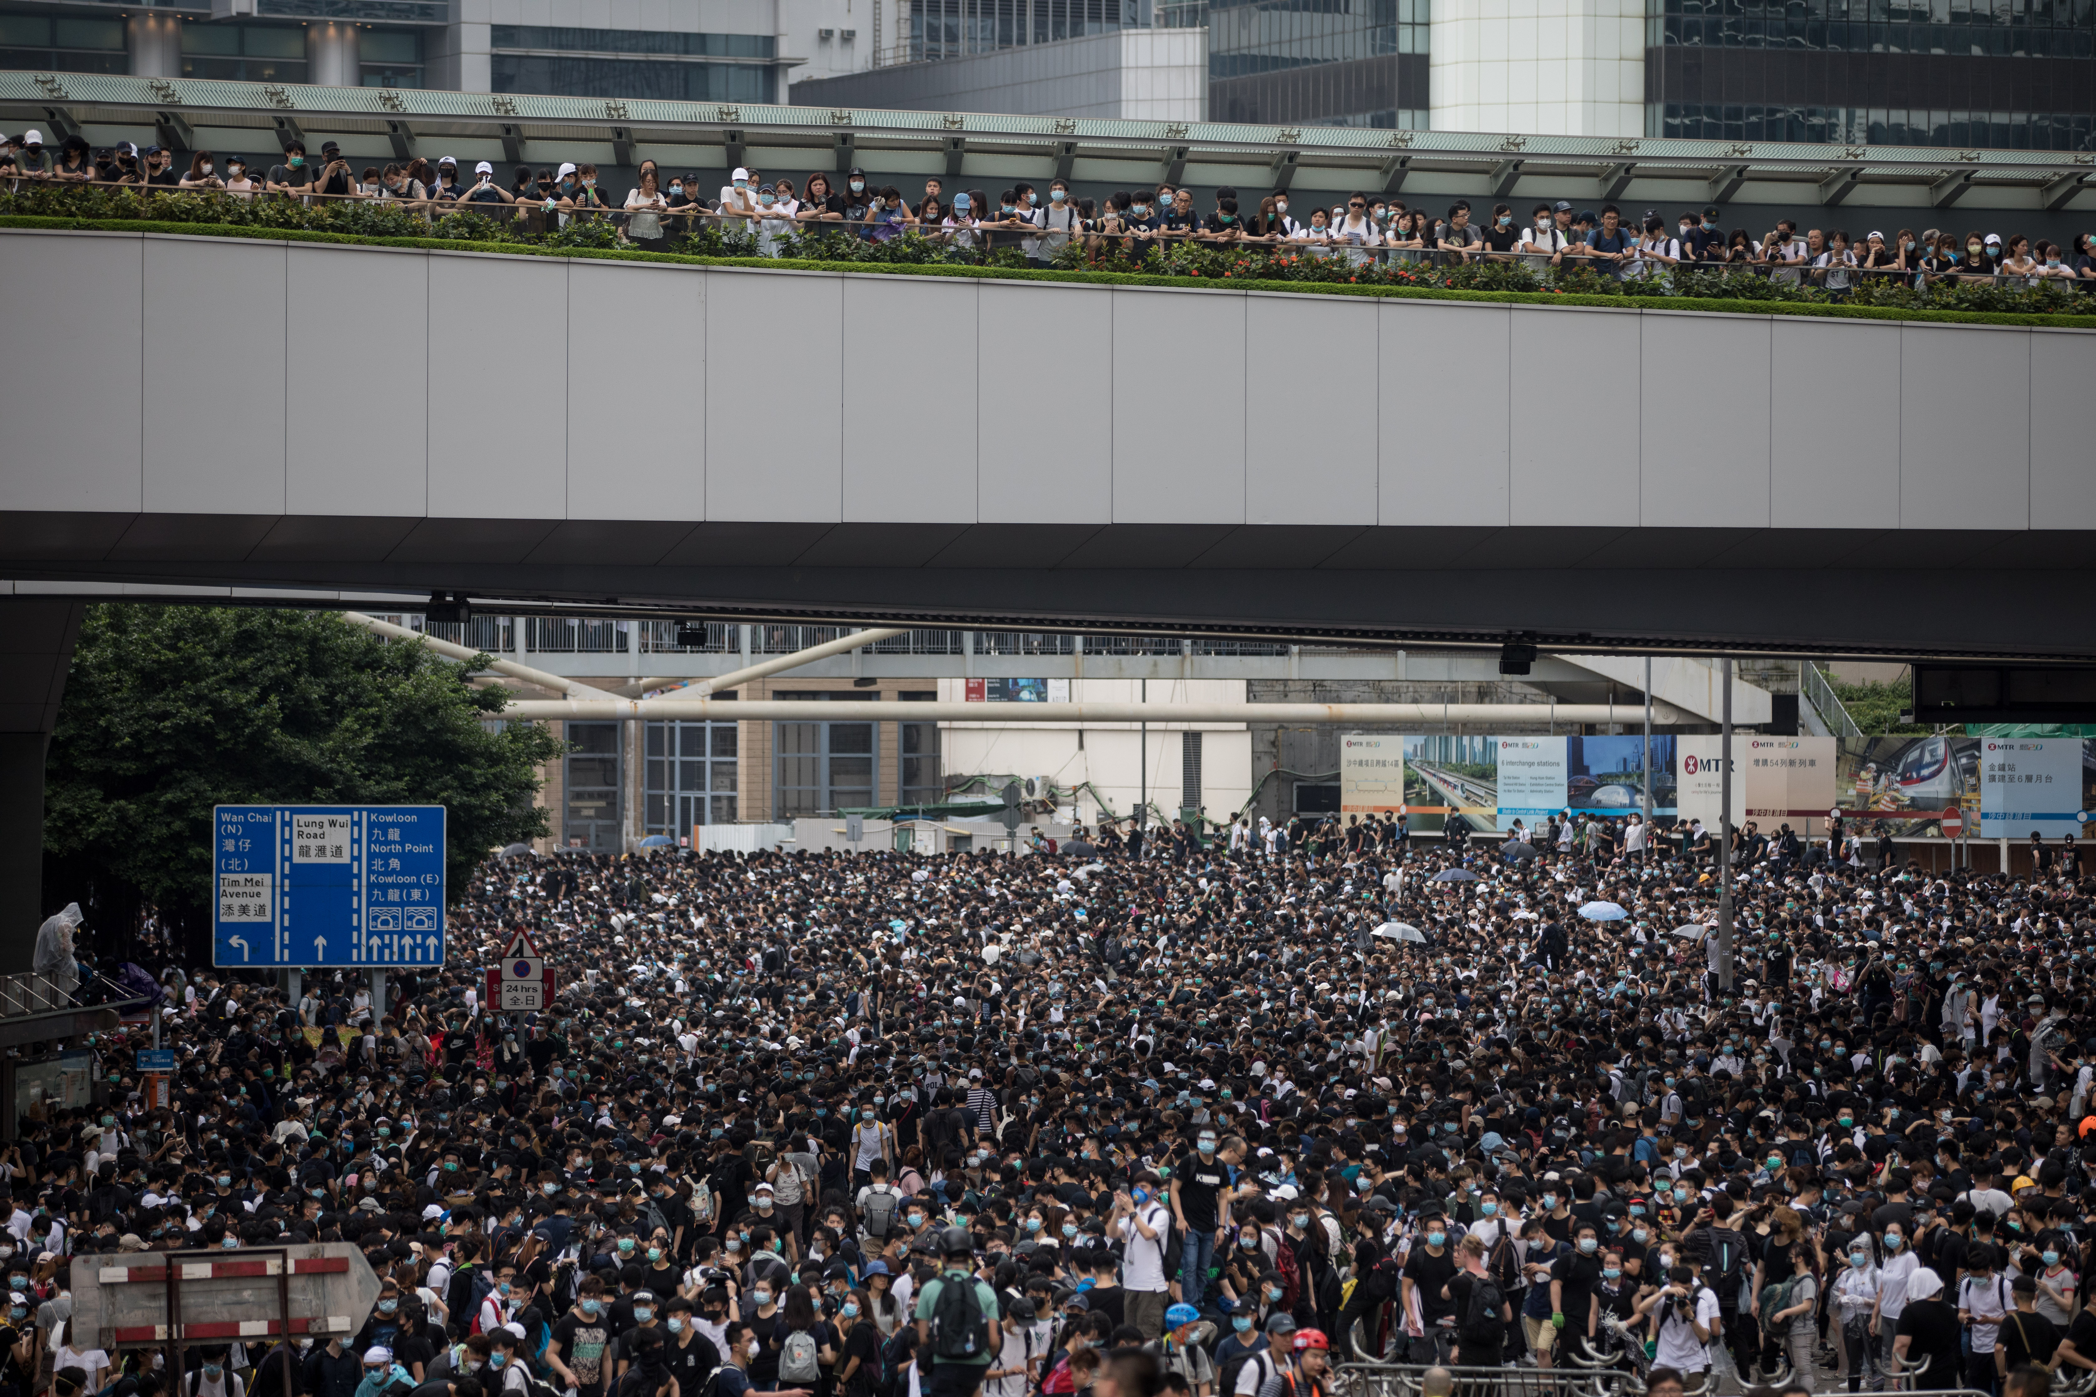
[[[2096,886],[1765,844],[1727,984],[1694,829],[1555,825],[518,855],[388,1003],[149,966],[174,1110],[147,1030],[99,1035],[101,1104],[0,1154],[0,1384],[170,1391],[157,1351],[71,1343],[78,1267],[285,1240],[384,1280],[298,1343],[312,1397],[1323,1397],[1356,1355],[1480,1393],[1606,1361],[2031,1397],[2096,1368]],[[518,932],[560,993],[490,1014]],[[287,1397],[268,1345],[189,1363],[184,1397]]]

